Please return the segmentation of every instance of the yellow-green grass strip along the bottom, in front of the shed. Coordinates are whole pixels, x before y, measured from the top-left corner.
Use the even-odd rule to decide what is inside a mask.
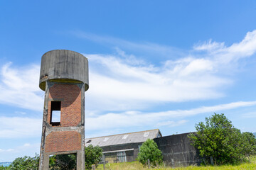
[[[103,165],[98,166],[99,170],[103,170]],[[124,162],[124,163],[114,163],[106,164],[105,170],[146,170],[147,167],[142,166],[139,162]],[[240,165],[223,165],[223,166],[187,166],[187,167],[159,167],[151,168],[155,170],[233,170],[233,169],[255,169],[256,170],[256,157],[251,158],[251,163],[244,163]]]

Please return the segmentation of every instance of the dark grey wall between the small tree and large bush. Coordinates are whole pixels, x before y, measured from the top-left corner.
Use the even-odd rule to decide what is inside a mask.
[[[188,166],[200,164],[196,148],[191,145],[189,133],[170,135],[154,139],[164,156],[164,162],[169,166]]]

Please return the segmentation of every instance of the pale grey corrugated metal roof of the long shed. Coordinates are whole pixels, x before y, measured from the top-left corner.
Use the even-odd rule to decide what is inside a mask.
[[[156,137],[161,137],[161,132],[159,129],[155,130],[145,130],[141,132],[130,132],[118,135],[110,135],[103,137],[92,137],[85,139],[85,146],[110,146],[110,145],[122,145],[127,143],[138,143],[145,142],[147,139],[154,139]]]

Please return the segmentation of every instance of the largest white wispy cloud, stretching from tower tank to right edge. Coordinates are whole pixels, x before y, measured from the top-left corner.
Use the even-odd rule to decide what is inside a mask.
[[[116,43],[112,38],[110,41]],[[127,62],[131,56],[120,49],[122,57],[85,54],[90,61],[88,109],[125,111],[147,108],[152,103],[223,97],[224,90],[234,83],[229,74],[239,65],[238,60],[255,54],[256,30],[229,47],[210,40],[193,49],[207,52],[166,60],[160,66],[141,60]]]

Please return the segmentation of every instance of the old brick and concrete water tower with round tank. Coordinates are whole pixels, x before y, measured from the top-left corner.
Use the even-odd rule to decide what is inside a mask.
[[[87,58],[70,50],[46,52],[39,87],[45,91],[39,169],[49,169],[54,154],[76,154],[77,169],[85,169]]]

